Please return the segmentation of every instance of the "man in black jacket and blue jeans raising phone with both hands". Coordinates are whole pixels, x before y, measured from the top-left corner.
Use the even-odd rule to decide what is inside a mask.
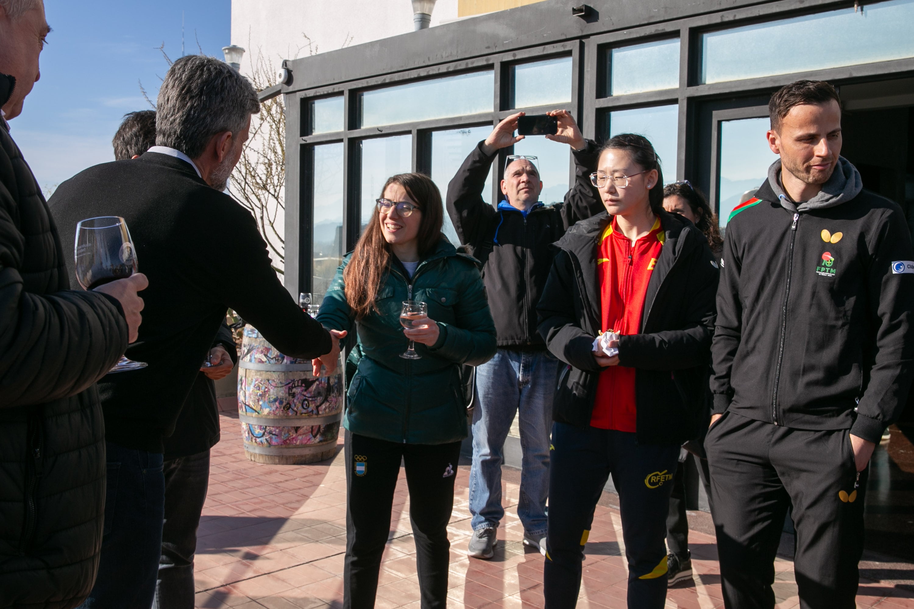
[[[546,135],[552,142],[569,144],[575,159],[575,184],[565,202],[539,202],[543,183],[537,165],[519,155],[506,159],[501,181],[505,199],[497,208],[484,201],[485,180],[499,151],[525,138],[514,134],[524,116],[512,114],[479,142],[449,184],[447,196],[448,214],[461,243],[484,264],[483,280],[498,334],[498,352],[476,369],[470,473],[473,538],[467,553],[481,559],[492,558],[496,529],[505,515],[501,467],[515,414],[524,450],[517,505],[524,543],[541,550],[546,537],[549,430],[558,360],[548,354],[537,332],[537,302],[552,267],[550,244],[578,220],[603,209],[589,177],[595,170],[597,146],[584,139],[567,110],[547,112],[557,130]],[[547,121],[551,122],[536,122]]]

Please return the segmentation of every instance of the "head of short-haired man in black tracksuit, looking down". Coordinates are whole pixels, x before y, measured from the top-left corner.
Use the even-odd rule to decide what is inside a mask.
[[[838,92],[821,80],[797,80],[772,95],[768,109],[768,143],[781,156],[781,179],[795,178],[813,190],[825,184],[841,154]]]

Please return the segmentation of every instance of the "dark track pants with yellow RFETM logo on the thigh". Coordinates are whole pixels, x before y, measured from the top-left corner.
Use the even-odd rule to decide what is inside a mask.
[[[678,457],[679,446],[637,444],[634,434],[553,424],[543,569],[547,609],[578,603],[584,544],[610,476],[619,492],[628,606],[664,606],[666,512]]]

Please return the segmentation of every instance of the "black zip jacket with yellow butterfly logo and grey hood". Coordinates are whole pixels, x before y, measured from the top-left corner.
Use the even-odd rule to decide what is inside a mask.
[[[861,190],[844,159],[839,171],[856,188],[830,180],[809,202],[824,204],[781,204],[770,179],[731,215],[714,412],[878,444],[914,373],[914,251],[898,205]]]

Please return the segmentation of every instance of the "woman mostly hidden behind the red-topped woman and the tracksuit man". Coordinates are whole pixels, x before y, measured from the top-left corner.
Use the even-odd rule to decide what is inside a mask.
[[[707,245],[718,266],[723,253],[724,239],[720,236],[717,225],[717,214],[707,205],[704,194],[696,189],[688,180],[666,184],[664,186],[664,209],[670,214],[678,214],[696,226],[707,239]],[[697,436],[688,440],[683,445],[684,450],[679,453],[679,464],[673,477],[673,491],[670,496],[670,509],[666,516],[666,547],[669,549],[666,565],[666,581],[668,585],[675,585],[686,579],[692,578],[692,552],[688,549],[688,514],[686,513],[687,498],[686,478],[698,474],[702,486],[705,487],[708,507],[711,502],[711,478],[707,470],[707,456],[705,454],[705,435],[707,426],[711,422],[710,389],[708,389],[708,402],[702,411],[702,423],[698,425]],[[693,457],[696,467],[691,467],[689,457]],[[694,479],[694,478],[692,478]]]

